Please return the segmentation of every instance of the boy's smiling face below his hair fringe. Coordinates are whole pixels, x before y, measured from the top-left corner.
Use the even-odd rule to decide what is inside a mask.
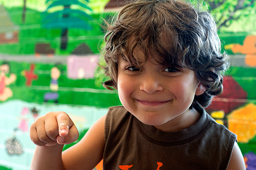
[[[144,54],[136,51],[135,57],[143,61]],[[119,59],[117,89],[122,105],[142,123],[158,129],[187,121],[195,113],[189,109],[195,94],[204,92],[195,72],[150,60],[138,68]]]

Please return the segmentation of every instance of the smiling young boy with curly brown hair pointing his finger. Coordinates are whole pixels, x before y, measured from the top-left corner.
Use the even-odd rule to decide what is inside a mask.
[[[175,0],[139,0],[119,12],[105,36],[104,82],[123,106],[111,107],[80,142],[64,112],[31,126],[31,169],[245,169],[236,135],[204,110],[222,92],[215,22]]]

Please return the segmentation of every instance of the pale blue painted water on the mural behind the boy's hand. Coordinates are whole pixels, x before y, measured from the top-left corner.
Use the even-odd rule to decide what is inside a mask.
[[[38,111],[33,116],[32,108]],[[35,104],[20,100],[11,100],[0,104],[0,165],[13,170],[28,170],[34,153],[35,145],[29,138],[29,127],[35,118],[49,111],[65,111],[70,115],[78,131],[90,128],[93,123],[108,109],[91,106],[70,106],[61,104]],[[16,129],[16,131],[15,131]],[[22,146],[21,155],[10,155],[6,141],[15,139]],[[9,148],[13,151],[16,148]]]

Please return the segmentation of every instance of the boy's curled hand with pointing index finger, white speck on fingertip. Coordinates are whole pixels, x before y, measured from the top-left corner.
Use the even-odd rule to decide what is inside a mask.
[[[79,136],[73,121],[65,112],[48,112],[30,127],[30,139],[38,146],[70,144]]]

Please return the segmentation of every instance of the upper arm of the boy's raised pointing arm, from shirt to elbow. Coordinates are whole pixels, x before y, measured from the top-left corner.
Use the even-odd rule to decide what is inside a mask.
[[[105,147],[105,117],[102,116],[73,147],[62,153],[65,169],[93,169],[102,159]]]

